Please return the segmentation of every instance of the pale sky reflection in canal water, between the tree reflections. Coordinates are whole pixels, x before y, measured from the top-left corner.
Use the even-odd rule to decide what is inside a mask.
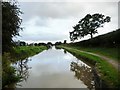
[[[82,81],[75,79],[70,71],[70,63],[78,61],[70,53],[55,48],[43,51],[28,62],[30,76],[21,82],[24,88],[86,88]],[[80,60],[79,60],[80,61]]]

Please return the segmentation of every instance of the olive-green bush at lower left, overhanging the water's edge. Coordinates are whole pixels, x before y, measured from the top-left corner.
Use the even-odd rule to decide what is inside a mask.
[[[11,83],[19,82],[20,77],[16,75],[16,70],[11,66],[12,58],[9,53],[2,56],[2,87],[8,87]]]

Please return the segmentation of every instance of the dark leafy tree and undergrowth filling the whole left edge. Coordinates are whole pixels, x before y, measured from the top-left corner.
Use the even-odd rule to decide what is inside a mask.
[[[18,8],[15,0],[11,2],[2,2],[2,88],[9,84],[20,81],[16,75],[16,69],[11,66],[14,41],[12,38],[19,35],[22,28],[20,15],[22,12]]]

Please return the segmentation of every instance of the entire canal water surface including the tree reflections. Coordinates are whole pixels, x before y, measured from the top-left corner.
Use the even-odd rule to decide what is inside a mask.
[[[52,47],[14,66],[23,77],[17,88],[94,87],[91,67],[63,49]]]

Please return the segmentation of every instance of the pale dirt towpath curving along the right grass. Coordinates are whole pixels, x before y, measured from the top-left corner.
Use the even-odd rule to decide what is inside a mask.
[[[82,51],[82,50],[79,50],[80,52],[84,52],[84,53],[88,53],[88,54],[91,54],[91,55],[95,55],[95,56],[98,56],[104,60],[106,60],[108,63],[112,64],[116,69],[120,70],[120,63],[118,63],[118,61],[114,60],[114,59],[111,59],[111,58],[108,58],[106,56],[103,56],[103,55],[99,55],[99,54],[96,54],[96,53],[91,53],[91,52],[86,52],[86,51]]]

